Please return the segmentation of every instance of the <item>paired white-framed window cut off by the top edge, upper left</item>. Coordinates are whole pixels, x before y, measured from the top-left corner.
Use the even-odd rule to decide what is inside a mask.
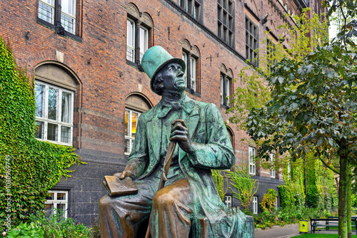
[[[62,0],[61,4],[61,26],[69,33],[76,33],[76,0]],[[50,24],[55,21],[55,0],[39,0],[39,19]]]

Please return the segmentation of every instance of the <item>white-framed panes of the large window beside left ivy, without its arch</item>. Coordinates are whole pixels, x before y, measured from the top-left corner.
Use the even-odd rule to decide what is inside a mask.
[[[57,144],[72,145],[74,92],[35,82],[35,137]]]

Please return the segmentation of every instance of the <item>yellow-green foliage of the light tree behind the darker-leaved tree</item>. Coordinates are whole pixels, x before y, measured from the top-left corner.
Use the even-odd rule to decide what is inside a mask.
[[[324,15],[310,14],[311,9],[303,9],[300,16],[293,16],[296,24],[283,24],[278,28],[283,34],[278,36],[281,40],[273,43],[269,38],[270,32],[266,31],[260,45],[259,66],[253,67],[248,64],[241,69],[238,79],[244,87],[236,88],[231,98],[231,108],[228,112],[233,113],[229,118],[241,130],[246,130],[246,115],[253,108],[261,108],[268,100],[271,100],[270,86],[266,78],[271,75],[272,65],[280,62],[283,58],[294,58],[301,61],[308,53],[313,51],[318,44],[328,41],[328,21]],[[310,17],[311,15],[311,17]],[[311,33],[313,32],[313,33]],[[308,36],[308,37],[307,37]],[[285,46],[288,46],[287,48]],[[258,145],[259,142],[256,141]],[[259,145],[258,145],[259,146]],[[276,155],[273,163],[268,160],[260,160],[261,167],[271,170],[279,170],[288,164],[288,154]]]

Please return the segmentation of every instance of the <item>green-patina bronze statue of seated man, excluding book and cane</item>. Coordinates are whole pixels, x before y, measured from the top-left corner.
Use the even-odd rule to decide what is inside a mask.
[[[131,177],[138,193],[99,202],[102,237],[138,237],[149,217],[151,237],[253,237],[253,218],[228,209],[212,179],[211,169],[230,169],[235,161],[218,108],[188,98],[184,61],[161,46],[149,48],[141,62],[161,101],[141,114],[128,164],[116,174]],[[171,141],[178,146],[158,191]]]

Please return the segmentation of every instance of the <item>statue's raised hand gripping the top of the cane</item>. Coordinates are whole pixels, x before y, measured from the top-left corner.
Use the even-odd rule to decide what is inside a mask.
[[[178,143],[180,148],[189,154],[195,151],[194,145],[191,141],[190,135],[188,134],[188,128],[184,120],[177,119],[171,123],[171,135],[170,140]]]

